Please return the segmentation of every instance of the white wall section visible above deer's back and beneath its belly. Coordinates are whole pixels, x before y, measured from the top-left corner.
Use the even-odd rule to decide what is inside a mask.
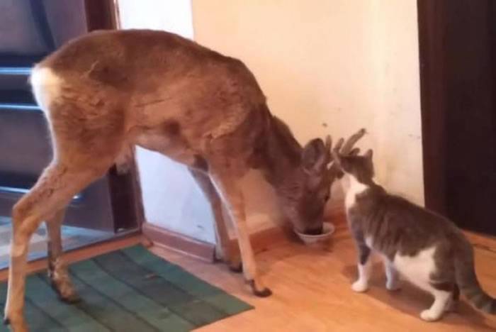
[[[189,0],[119,0],[118,7],[120,28],[150,28],[193,38]],[[137,164],[146,220],[215,243],[210,206],[186,167],[142,148],[137,148]]]

